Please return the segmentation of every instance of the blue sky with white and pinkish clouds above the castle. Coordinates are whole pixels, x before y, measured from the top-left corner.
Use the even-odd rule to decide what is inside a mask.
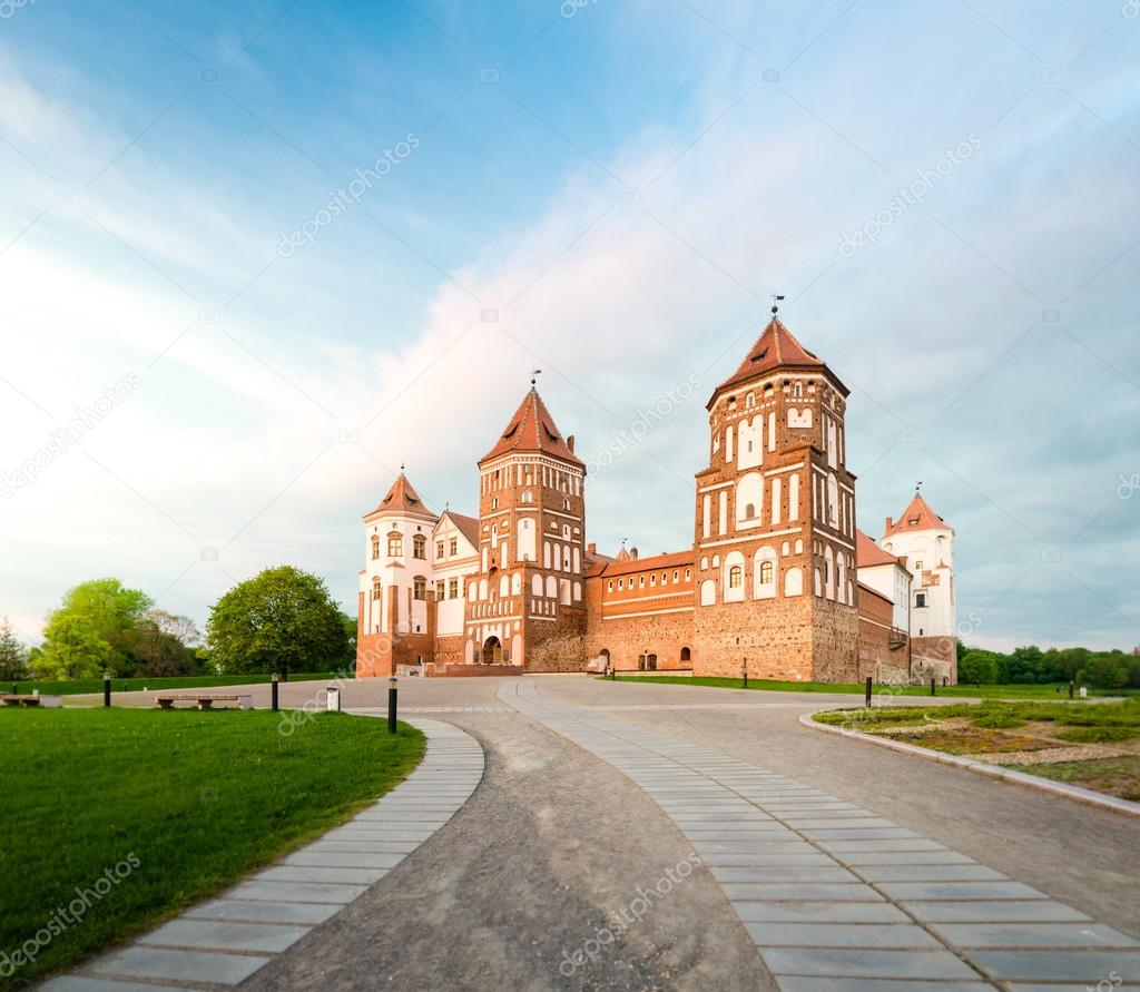
[[[361,515],[401,463],[474,512],[535,368],[588,539],[689,546],[780,293],[964,640],[1140,644],[1138,15],[5,0],[0,616],[116,576],[204,625],[279,563],[355,613]]]

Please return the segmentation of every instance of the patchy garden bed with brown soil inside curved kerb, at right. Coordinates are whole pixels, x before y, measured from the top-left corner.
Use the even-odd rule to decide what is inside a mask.
[[[983,756],[983,761],[1026,774],[1140,802],[1140,699],[1135,697],[1123,702],[991,700],[844,709],[817,713],[814,718],[946,754]],[[1064,748],[1070,750],[1058,750]],[[1041,751],[1048,754],[1031,759]],[[1007,755],[1026,758],[1023,763],[1005,759]]]

